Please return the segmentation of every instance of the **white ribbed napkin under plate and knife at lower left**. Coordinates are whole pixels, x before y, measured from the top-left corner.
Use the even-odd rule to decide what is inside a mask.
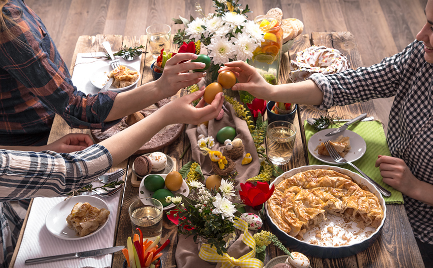
[[[93,182],[92,184],[96,187],[101,183]],[[53,236],[45,226],[45,218],[50,209],[60,202],[64,202],[66,196],[34,198],[14,268],[28,268],[29,266],[24,264],[25,260],[28,259],[113,247],[120,192],[106,198],[101,198],[107,203],[108,210],[110,211],[108,222],[103,229],[91,237],[74,241],[62,240]],[[94,193],[84,194],[95,195]],[[98,197],[97,195],[95,196]],[[64,223],[66,224],[66,219]],[[109,268],[111,264],[112,254],[107,254],[93,258],[36,264],[31,265],[31,267]]]

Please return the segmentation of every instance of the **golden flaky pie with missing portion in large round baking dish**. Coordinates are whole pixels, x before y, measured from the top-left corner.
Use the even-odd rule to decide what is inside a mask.
[[[286,178],[267,201],[269,216],[284,232],[303,235],[326,219],[326,213],[377,228],[384,211],[376,195],[351,177],[334,170],[313,169]]]

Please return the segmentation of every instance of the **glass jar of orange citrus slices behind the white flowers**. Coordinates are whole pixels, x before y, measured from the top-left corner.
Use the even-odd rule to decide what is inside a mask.
[[[271,15],[259,15],[254,18],[254,23],[264,32],[264,41],[254,50],[252,58],[247,62],[255,67],[269,84],[276,85],[283,46],[281,20]],[[244,99],[246,103],[250,103],[253,97],[246,96]]]

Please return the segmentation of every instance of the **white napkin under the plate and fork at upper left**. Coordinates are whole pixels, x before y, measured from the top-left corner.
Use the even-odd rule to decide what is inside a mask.
[[[90,82],[90,79],[92,79],[92,77],[96,75],[95,72],[98,69],[110,65],[109,62],[111,60],[95,58],[104,55],[105,53],[103,52],[77,54],[77,59],[75,61],[75,66],[74,66],[74,72],[72,74],[72,79],[71,79],[74,86],[77,87],[77,90],[85,94],[92,94],[92,95],[97,94],[100,91],[100,89],[93,86],[93,84]],[[142,55],[140,55],[138,58],[131,61],[127,61],[124,58],[119,56],[115,56],[115,59],[120,59],[120,65],[131,66],[134,69],[140,71],[141,56]],[[134,87],[136,86],[133,86],[130,89],[133,89]]]

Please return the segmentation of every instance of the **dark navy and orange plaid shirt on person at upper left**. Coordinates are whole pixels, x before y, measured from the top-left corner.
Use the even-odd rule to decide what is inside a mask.
[[[55,114],[73,128],[117,123],[103,123],[117,93],[77,91],[42,21],[22,0],[9,0],[2,12],[18,23],[8,26],[23,44],[0,38],[0,145],[46,138]]]

